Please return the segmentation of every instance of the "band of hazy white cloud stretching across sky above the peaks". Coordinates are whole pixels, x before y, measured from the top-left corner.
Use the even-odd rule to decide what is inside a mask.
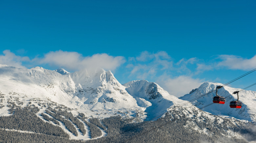
[[[176,62],[165,51],[157,53],[143,51],[137,57],[125,59],[124,56],[110,56],[106,53],[83,56],[78,52],[58,50],[50,51],[41,57],[30,60],[27,56],[17,56],[10,50],[5,50],[0,55],[0,64],[18,68],[26,68],[25,65],[28,64],[29,67],[27,68],[32,66],[47,68],[50,66],[52,70],[64,68],[71,72],[83,69],[95,71],[98,68],[113,72],[120,67],[121,70],[117,74],[117,76],[122,77],[120,82],[146,79],[158,83],[170,94],[182,96],[193,88],[199,87],[204,82],[203,78],[210,79],[212,82],[221,78],[222,73],[215,74],[220,70],[251,70],[256,68],[256,55],[249,59],[234,55],[219,55],[218,58],[210,59],[207,62],[198,57],[181,57]],[[210,78],[207,76],[208,71]]]

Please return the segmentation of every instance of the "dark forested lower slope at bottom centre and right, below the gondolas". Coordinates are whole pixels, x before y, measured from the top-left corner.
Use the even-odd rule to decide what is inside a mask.
[[[133,119],[122,119],[120,116],[102,119],[103,124],[108,128],[108,135],[99,139],[89,140],[88,143],[247,142],[243,139],[224,137],[224,135],[228,134],[224,126],[227,126],[227,128],[232,127],[234,130],[242,126],[248,129],[249,127],[245,127],[243,123],[235,127],[228,119],[224,119],[223,123],[218,124],[214,123],[215,120],[212,121],[202,115],[200,115],[202,120],[196,121],[199,116],[187,118],[182,110],[174,110],[171,114],[166,114],[165,117],[156,121],[146,122],[140,126],[138,125],[141,123],[133,122]],[[206,129],[209,135],[196,131],[193,122],[200,125],[201,130]],[[255,134],[252,130],[243,129],[243,131],[250,135]],[[239,130],[240,132],[241,130]]]

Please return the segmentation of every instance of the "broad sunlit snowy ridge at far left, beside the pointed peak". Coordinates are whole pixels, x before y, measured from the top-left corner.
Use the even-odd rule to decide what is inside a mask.
[[[74,83],[68,75],[61,75],[41,67],[21,69],[0,65],[0,90],[3,94],[15,92],[30,98],[50,99],[66,102],[72,97],[66,91],[74,92]]]

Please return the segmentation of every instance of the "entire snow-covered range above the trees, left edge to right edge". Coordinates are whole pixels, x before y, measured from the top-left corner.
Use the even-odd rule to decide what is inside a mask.
[[[63,71],[65,74],[60,74]],[[111,71],[98,69],[93,72],[86,70],[69,73],[64,69],[55,71],[42,67],[32,69],[15,68],[0,64],[0,93],[5,94],[3,104],[7,104],[9,95],[24,96],[24,101],[40,98],[51,100],[58,104],[86,112],[98,118],[106,118],[121,113],[134,116],[141,113],[145,118],[156,117],[172,106],[177,106],[204,93],[207,93],[221,83],[203,83],[191,94],[177,98],[163,90],[158,84],[146,80],[131,81],[121,85]],[[228,96],[234,91],[241,90],[225,86],[218,90],[220,96]],[[196,107],[203,107],[212,103],[215,92],[192,102]],[[236,100],[237,95],[226,98],[225,104],[213,104],[203,108],[203,111],[214,115],[234,117],[240,120],[256,120],[255,91],[240,91],[239,99],[243,103],[241,109],[232,109],[229,102]],[[182,99],[182,100],[181,100]],[[191,107],[186,104],[184,107]],[[91,111],[93,110],[93,111]],[[7,116],[7,107],[0,110],[1,116]],[[95,112],[96,111],[96,112]],[[122,116],[121,115],[121,116]]]

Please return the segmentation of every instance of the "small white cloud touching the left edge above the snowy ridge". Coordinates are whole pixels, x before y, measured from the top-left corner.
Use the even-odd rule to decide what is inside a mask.
[[[4,55],[0,55],[0,64],[6,64],[8,66],[13,66],[17,68],[26,68],[22,66],[23,61],[30,61],[27,56],[16,56],[10,50],[4,50]]]

